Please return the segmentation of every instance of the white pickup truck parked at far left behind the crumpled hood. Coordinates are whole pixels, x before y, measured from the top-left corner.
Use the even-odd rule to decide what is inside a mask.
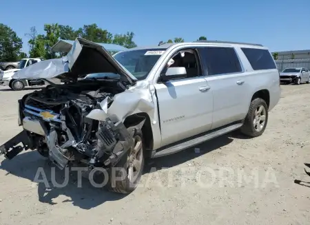
[[[15,72],[43,60],[43,58],[21,59],[17,69],[8,69],[6,71],[0,72],[0,85],[9,86],[14,91],[21,91],[25,89],[26,86],[44,85],[45,83],[39,79],[12,79],[12,76],[15,74]]]

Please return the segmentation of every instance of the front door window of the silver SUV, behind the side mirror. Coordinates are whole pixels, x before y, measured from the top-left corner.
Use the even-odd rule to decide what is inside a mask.
[[[186,78],[201,76],[201,66],[198,54],[194,49],[180,50],[169,59],[161,74],[165,74],[168,67],[185,67]]]

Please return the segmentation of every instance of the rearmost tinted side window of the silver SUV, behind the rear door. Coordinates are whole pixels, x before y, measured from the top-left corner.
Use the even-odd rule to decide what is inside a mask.
[[[254,70],[276,69],[276,63],[268,50],[241,47],[242,52]]]

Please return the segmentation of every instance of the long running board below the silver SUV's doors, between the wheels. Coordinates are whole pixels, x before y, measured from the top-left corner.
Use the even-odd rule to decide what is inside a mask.
[[[198,138],[194,138],[191,140],[187,140],[185,142],[181,142],[179,144],[173,145],[171,147],[167,147],[166,149],[163,149],[161,151],[157,151],[152,158],[158,158],[162,156],[168,156],[173,153],[176,153],[178,151],[183,151],[184,149],[188,149],[189,147],[193,147],[197,144],[203,143],[207,140],[211,140],[213,138],[216,138],[218,136],[222,136],[225,133],[229,133],[231,131],[234,131],[240,127],[242,127],[242,123],[234,124],[229,127],[224,127],[222,129],[217,129],[216,131],[211,131],[210,133],[206,133],[203,136],[199,136]]]

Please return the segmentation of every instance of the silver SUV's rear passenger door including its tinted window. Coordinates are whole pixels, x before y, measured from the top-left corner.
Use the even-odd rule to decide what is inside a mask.
[[[200,55],[214,96],[212,129],[244,119],[248,84],[234,47],[203,47]]]

